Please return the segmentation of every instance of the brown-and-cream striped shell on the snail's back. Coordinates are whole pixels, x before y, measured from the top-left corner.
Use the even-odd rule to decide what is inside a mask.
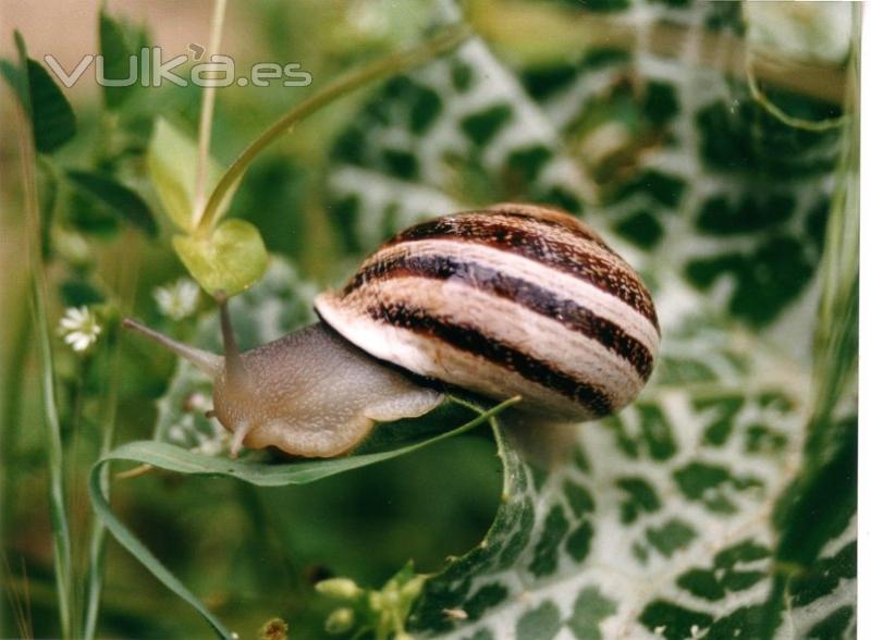
[[[315,307],[377,358],[581,420],[628,404],[660,342],[631,267],[585,223],[530,205],[412,226]]]

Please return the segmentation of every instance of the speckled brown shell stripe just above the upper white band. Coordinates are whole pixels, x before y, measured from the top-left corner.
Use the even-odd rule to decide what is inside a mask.
[[[659,333],[650,295],[628,266],[616,268],[584,247],[548,237],[545,233],[488,220],[489,213],[461,213],[422,222],[398,234],[385,246],[432,238],[478,243],[536,260],[584,280],[615,296],[647,318]],[[376,254],[377,259],[377,254]],[[622,262],[622,260],[621,260]]]

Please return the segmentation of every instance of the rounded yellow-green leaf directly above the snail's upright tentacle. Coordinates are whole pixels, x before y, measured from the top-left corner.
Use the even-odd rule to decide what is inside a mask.
[[[172,246],[210,295],[234,296],[245,291],[260,280],[269,260],[260,232],[238,219],[222,222],[209,235],[176,235]]]

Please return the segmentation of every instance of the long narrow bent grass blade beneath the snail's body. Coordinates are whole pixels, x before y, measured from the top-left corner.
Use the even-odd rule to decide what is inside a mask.
[[[414,444],[378,453],[323,460],[268,465],[244,459],[232,460],[223,457],[207,456],[161,442],[132,442],[118,447],[94,466],[88,481],[88,492],[97,516],[106,524],[107,529],[115,537],[118,542],[151,571],[158,580],[163,582],[168,589],[199,612],[220,637],[230,640],[233,638],[232,632],[114,515],[100,487],[100,469],[103,465],[116,460],[126,460],[180,473],[236,478],[258,487],[306,484],[367,465],[407,455],[436,442],[453,438],[491,420],[514,402],[507,401],[487,411],[480,411],[476,418],[461,427]],[[462,405],[468,406],[466,403],[462,403]]]

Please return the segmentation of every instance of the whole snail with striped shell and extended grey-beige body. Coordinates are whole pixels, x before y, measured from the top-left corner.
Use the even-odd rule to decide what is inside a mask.
[[[660,328],[639,275],[561,210],[501,204],[429,220],[384,243],[320,322],[240,353],[219,299],[224,356],[126,319],[213,380],[232,455],[278,447],[332,457],[376,422],[421,416],[451,387],[584,421],[619,410],[657,359]]]

